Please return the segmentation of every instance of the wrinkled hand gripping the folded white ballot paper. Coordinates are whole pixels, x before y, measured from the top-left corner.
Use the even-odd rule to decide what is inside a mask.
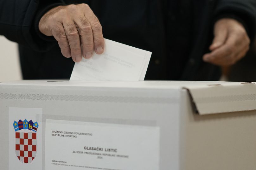
[[[49,10],[39,22],[39,30],[54,36],[63,56],[80,62],[104,51],[102,27],[87,4],[58,6]]]

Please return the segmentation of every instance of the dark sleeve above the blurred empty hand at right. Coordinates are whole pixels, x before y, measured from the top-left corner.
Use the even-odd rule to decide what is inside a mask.
[[[228,17],[240,21],[245,26],[251,41],[254,40],[256,34],[256,0],[218,0],[214,17],[215,19]]]

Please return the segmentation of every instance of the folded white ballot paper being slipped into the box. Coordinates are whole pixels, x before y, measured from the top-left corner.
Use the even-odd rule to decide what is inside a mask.
[[[105,39],[105,51],[75,63],[70,81],[143,81],[151,52]]]

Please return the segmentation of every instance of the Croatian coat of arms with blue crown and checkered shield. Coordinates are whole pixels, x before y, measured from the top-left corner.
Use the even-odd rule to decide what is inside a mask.
[[[36,131],[38,123],[32,120],[14,121],[15,130],[15,153],[23,163],[30,163],[36,155]]]

